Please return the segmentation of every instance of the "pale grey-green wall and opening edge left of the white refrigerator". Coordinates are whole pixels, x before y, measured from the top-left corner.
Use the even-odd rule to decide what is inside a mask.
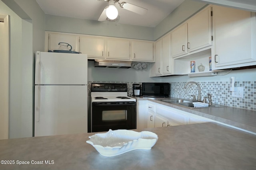
[[[10,15],[9,138],[32,137],[33,51],[44,50],[44,12],[35,0],[0,0],[0,13]]]

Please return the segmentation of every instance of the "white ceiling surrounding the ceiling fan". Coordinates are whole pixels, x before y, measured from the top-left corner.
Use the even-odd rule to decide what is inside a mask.
[[[71,18],[80,18],[86,20],[98,20],[100,14],[108,2],[98,0],[36,0],[45,14],[55,16],[65,16]],[[175,8],[177,8],[184,0],[120,0],[120,2],[128,2],[137,6],[148,9],[145,15],[139,15],[134,12],[120,8],[118,23],[140,25],[146,27],[155,27],[166,16],[168,16]],[[237,5],[237,2],[249,4],[252,8],[256,7],[256,0],[196,0],[201,2],[224,4],[231,3]],[[238,4],[239,8],[240,4]],[[247,7],[245,7],[247,8]],[[253,10],[252,10],[253,11]]]

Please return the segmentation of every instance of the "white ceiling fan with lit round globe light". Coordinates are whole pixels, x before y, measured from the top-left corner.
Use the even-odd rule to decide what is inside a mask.
[[[98,0],[98,1],[103,1],[103,0]],[[118,10],[116,9],[116,4],[118,4],[121,8],[135,12],[140,15],[144,15],[148,11],[146,8],[142,8],[140,6],[136,6],[128,2],[119,2],[119,0],[104,0],[104,1],[107,1],[109,5],[106,6],[106,8],[104,8],[98,21],[105,21],[108,19],[115,20],[118,16]]]

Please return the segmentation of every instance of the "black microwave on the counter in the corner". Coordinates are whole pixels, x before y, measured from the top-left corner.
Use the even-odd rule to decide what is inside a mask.
[[[169,97],[169,83],[142,83],[142,96],[144,97]]]

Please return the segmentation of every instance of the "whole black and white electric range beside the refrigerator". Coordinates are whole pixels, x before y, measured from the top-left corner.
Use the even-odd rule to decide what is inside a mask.
[[[92,83],[88,132],[136,129],[136,99],[125,83]]]

